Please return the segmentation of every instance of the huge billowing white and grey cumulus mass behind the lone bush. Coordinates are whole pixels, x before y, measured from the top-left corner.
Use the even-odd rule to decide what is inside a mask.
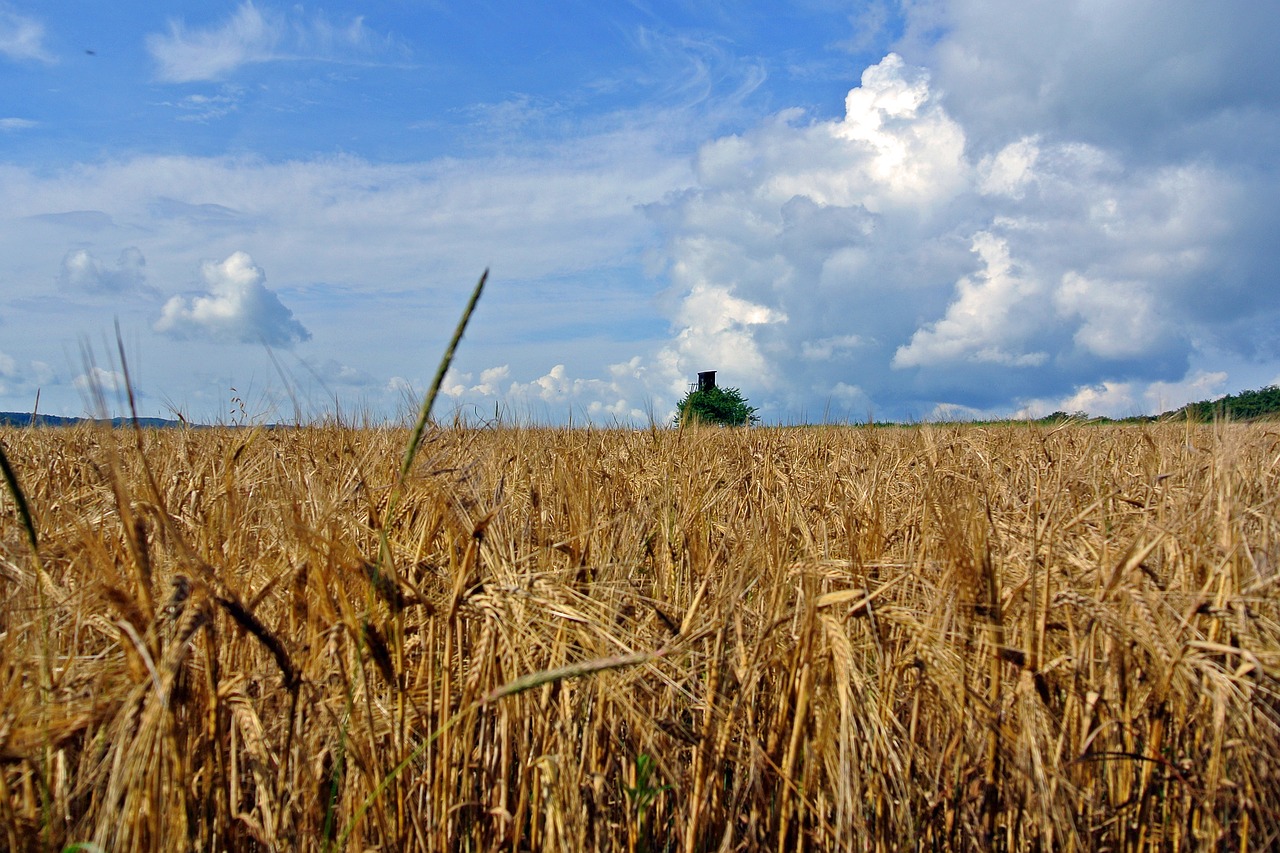
[[[654,364],[726,370],[767,416],[1138,411],[1192,393],[1207,347],[1275,338],[1272,172],[1249,184],[1016,123],[973,145],[951,106],[888,55],[838,119],[785,111],[708,142],[696,187],[655,210],[675,334]]]

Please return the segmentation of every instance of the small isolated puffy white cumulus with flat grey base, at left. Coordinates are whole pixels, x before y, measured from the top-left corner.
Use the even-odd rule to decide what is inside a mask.
[[[291,347],[311,333],[265,286],[266,274],[246,252],[223,263],[206,261],[201,277],[209,292],[165,302],[155,330],[177,339],[211,339]]]

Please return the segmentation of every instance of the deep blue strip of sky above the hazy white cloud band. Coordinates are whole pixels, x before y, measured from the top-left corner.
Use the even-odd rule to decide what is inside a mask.
[[[282,35],[269,61],[166,82],[148,37],[216,32],[233,3],[69,0],[45,17],[52,64],[6,63],[4,111],[36,122],[5,159],[52,167],[125,154],[351,152],[380,161],[527,146],[644,108],[748,101],[724,131],[795,105],[836,113],[878,59],[847,46],[850,15],[804,4],[379,4],[253,6]],[[35,12],[35,10],[33,10]],[[358,24],[358,47],[320,47],[316,20]],[[297,33],[302,35],[297,35]]]

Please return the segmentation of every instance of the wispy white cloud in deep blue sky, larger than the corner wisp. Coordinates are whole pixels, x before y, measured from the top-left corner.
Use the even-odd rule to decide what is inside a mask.
[[[323,15],[302,17],[301,6],[291,15],[262,10],[252,0],[242,3],[223,23],[189,28],[183,20],[169,22],[168,33],[147,36],[147,50],[156,63],[156,76],[169,83],[224,79],[243,65],[280,59],[347,61],[396,47],[372,33],[356,17],[334,24]],[[189,105],[198,108],[200,105]],[[233,106],[224,100],[206,105],[214,111]]]

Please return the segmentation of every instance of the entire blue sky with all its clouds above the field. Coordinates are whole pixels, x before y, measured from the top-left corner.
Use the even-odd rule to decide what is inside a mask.
[[[1280,4],[0,0],[0,410],[1157,414],[1280,383]],[[122,361],[120,352],[124,359]]]

